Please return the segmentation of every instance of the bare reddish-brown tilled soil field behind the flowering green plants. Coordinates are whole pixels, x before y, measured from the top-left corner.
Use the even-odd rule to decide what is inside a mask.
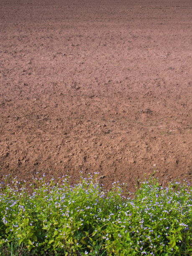
[[[191,0],[1,0],[0,35],[1,176],[190,178]]]

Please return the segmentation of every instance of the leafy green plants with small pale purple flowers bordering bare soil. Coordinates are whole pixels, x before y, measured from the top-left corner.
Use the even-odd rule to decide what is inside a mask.
[[[110,191],[95,177],[70,185],[4,177],[0,185],[1,255],[191,255],[192,188],[157,179]]]

